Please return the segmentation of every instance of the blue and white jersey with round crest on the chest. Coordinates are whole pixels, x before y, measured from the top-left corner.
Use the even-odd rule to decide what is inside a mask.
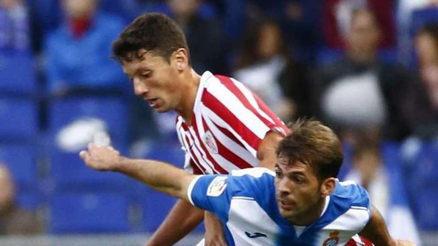
[[[354,182],[336,182],[321,217],[296,227],[280,215],[275,173],[263,167],[228,175],[200,175],[189,186],[196,207],[216,214],[230,246],[343,246],[370,218],[368,194]]]

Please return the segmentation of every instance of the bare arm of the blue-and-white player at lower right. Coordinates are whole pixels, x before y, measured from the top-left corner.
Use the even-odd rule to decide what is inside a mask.
[[[389,235],[382,215],[374,207],[371,207],[370,219],[359,235],[371,241],[375,246],[397,245]]]

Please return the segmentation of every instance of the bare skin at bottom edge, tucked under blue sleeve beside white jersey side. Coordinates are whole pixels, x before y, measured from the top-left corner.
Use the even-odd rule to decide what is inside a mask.
[[[222,223],[214,214],[206,211],[204,224],[206,228],[204,246],[228,246],[223,236]]]

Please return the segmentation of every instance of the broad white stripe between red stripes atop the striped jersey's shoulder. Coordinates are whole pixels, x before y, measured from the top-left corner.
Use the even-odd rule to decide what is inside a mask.
[[[228,90],[222,83],[211,83],[207,90],[228,108],[234,116],[253,132],[258,138],[263,139],[269,128],[251,110],[247,109],[242,102]]]

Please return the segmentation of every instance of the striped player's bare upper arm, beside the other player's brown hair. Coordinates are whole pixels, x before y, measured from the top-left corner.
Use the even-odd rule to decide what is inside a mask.
[[[282,139],[283,137],[280,133],[275,131],[266,133],[265,138],[260,142],[257,149],[257,159],[260,160],[259,166],[274,170],[274,165],[277,162],[275,150]]]

